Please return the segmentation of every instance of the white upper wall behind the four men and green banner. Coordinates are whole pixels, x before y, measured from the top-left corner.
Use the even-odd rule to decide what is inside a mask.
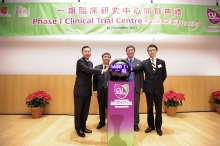
[[[78,1],[78,0],[76,0]],[[98,0],[80,0],[99,2]],[[59,2],[58,0],[5,0],[5,2]],[[62,1],[63,2],[63,1]],[[65,2],[74,2],[65,0]],[[101,1],[103,2],[103,0]],[[109,2],[109,1],[108,1]],[[111,1],[114,2],[114,1]],[[117,3],[124,2],[117,0]],[[148,1],[133,0],[129,2]],[[154,0],[154,3],[215,5],[215,0]],[[109,52],[112,60],[126,58],[125,48],[134,45],[135,56],[147,59],[147,46],[158,46],[168,75],[220,76],[220,36],[191,35],[77,35],[0,37],[0,74],[74,75],[81,48],[92,48],[90,60],[100,64]]]

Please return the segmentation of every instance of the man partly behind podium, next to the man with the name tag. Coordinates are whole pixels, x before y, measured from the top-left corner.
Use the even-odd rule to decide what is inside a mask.
[[[134,57],[135,47],[129,45],[126,47],[127,58],[126,60],[130,63],[131,67],[139,66],[141,61]],[[143,89],[143,72],[131,72],[129,76],[129,81],[134,81],[134,131],[139,131],[138,124],[140,122],[139,118],[139,103],[140,94]]]

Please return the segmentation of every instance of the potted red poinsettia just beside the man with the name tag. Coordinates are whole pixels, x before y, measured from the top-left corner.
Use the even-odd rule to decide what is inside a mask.
[[[169,116],[175,116],[177,107],[182,106],[183,101],[185,101],[185,94],[169,90],[163,94],[163,101],[167,110],[167,114]]]

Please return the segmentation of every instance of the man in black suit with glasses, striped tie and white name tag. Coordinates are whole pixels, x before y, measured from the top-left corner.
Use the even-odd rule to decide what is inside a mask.
[[[132,68],[132,71],[144,71],[144,88],[147,99],[147,123],[146,133],[151,132],[156,127],[158,135],[162,136],[162,96],[164,93],[163,82],[167,77],[165,61],[156,58],[158,48],[151,44],[147,48],[149,59],[142,61],[141,65]],[[153,102],[156,109],[156,118],[154,121]]]

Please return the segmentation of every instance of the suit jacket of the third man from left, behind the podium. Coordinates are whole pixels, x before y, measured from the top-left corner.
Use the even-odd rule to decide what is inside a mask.
[[[126,58],[126,60],[129,62],[128,58]],[[134,58],[134,64],[135,66],[139,66],[141,64],[141,60]],[[143,80],[144,80],[143,71],[135,72],[134,76],[135,76],[135,82],[134,82],[135,91],[140,94],[140,89],[143,88]]]

